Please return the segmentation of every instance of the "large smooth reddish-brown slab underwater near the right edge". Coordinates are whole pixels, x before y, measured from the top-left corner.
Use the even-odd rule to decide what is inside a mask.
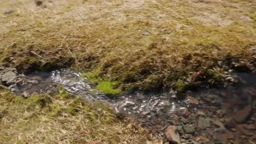
[[[243,107],[243,109],[238,109],[235,111],[235,114],[232,115],[232,118],[237,122],[237,123],[243,123],[248,116],[251,114],[253,110],[253,107],[251,104],[246,105]]]

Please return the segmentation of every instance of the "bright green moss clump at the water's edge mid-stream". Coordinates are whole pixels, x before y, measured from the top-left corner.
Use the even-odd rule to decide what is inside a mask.
[[[107,95],[116,95],[121,93],[121,89],[117,88],[115,89],[114,87],[117,85],[118,83],[115,82],[110,82],[110,81],[103,81],[101,83],[99,83],[99,85],[97,85],[96,89],[99,91],[102,91],[103,93],[107,94]]]

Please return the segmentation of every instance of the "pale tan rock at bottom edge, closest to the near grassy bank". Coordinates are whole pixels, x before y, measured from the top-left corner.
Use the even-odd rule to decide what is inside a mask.
[[[172,142],[173,144],[181,144],[181,139],[176,126],[168,126],[168,128],[166,128],[165,130],[165,136],[168,139],[168,141]]]

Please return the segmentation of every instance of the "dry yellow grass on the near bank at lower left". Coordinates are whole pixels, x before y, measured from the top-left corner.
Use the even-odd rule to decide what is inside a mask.
[[[119,121],[106,104],[76,96],[0,92],[1,144],[140,144],[147,135],[130,120]]]

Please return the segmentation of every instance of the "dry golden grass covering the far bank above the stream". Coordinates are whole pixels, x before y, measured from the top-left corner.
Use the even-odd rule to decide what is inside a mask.
[[[67,65],[97,70],[97,80],[118,81],[124,90],[171,87],[216,67],[217,61],[254,60],[249,48],[256,46],[255,5],[255,0],[67,0],[53,9],[19,5],[19,11],[0,16],[1,61],[20,71]]]

